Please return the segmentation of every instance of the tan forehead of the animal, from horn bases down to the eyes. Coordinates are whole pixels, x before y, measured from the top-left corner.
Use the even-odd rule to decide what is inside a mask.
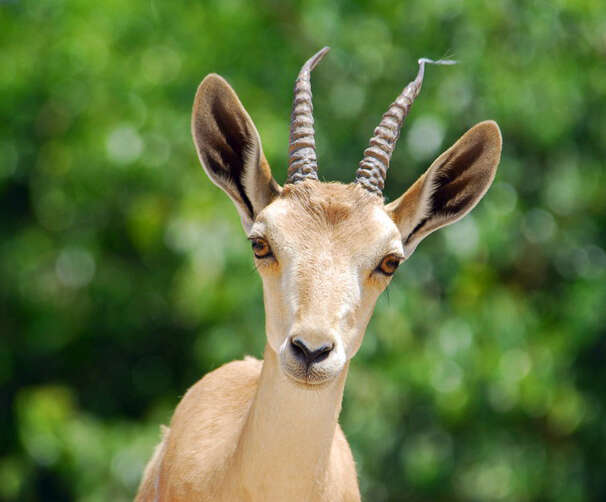
[[[280,197],[261,212],[255,227],[297,240],[344,236],[350,242],[356,238],[368,242],[375,236],[399,236],[381,198],[353,183],[286,185]]]

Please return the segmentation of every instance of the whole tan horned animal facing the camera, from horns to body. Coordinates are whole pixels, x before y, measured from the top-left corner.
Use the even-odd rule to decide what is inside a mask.
[[[234,202],[263,281],[267,344],[207,374],[185,394],[149,462],[138,501],[355,501],[356,469],[338,417],[349,362],[375,302],[434,230],[467,214],[494,179],[495,122],[441,154],[397,200],[382,189],[424,65],[383,115],[351,184],[321,183],[310,72],[294,90],[288,177],[274,180],[259,134],[220,76],[198,87],[194,143]]]

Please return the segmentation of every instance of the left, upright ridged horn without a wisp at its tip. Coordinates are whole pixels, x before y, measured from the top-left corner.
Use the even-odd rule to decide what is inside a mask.
[[[322,60],[330,47],[324,47],[309,58],[295,82],[290,138],[288,140],[288,177],[286,183],[318,179],[318,160],[314,139],[313,106],[311,104],[311,71]]]

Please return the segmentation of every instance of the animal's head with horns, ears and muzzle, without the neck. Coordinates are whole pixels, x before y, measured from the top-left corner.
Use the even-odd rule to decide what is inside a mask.
[[[304,385],[334,379],[356,354],[377,298],[419,242],[465,216],[491,185],[501,156],[495,122],[481,122],[442,153],[401,197],[382,189],[425,63],[374,131],[350,184],[318,181],[310,73],[296,80],[288,177],[281,187],[255,125],[220,76],[198,87],[192,134],[209,178],[234,202],[263,280],[268,346]]]

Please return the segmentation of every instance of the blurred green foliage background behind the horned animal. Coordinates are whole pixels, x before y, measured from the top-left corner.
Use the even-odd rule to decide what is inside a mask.
[[[321,174],[349,181],[430,67],[386,195],[475,122],[495,184],[380,299],[341,417],[365,500],[606,500],[606,3],[0,1],[0,499],[132,499],[159,424],[264,345],[261,284],[189,133],[225,76],[286,172],[313,75]]]

